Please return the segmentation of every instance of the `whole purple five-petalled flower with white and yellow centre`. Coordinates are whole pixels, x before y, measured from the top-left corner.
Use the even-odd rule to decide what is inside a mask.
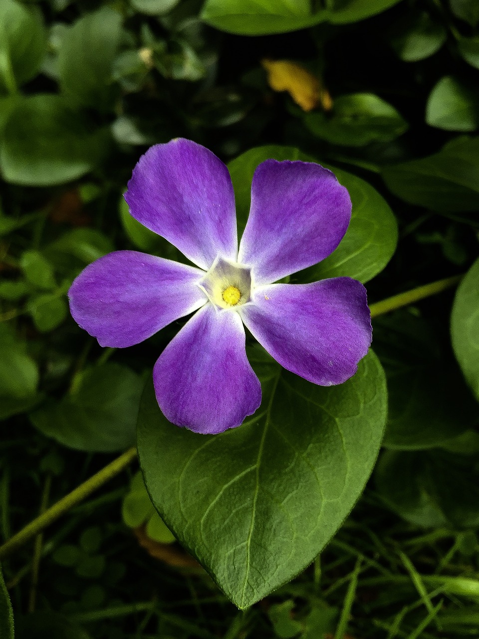
[[[101,346],[124,348],[194,313],[156,361],[156,399],[197,433],[239,426],[261,403],[245,325],[285,369],[322,386],[346,381],[371,343],[366,291],[350,277],[273,284],[330,255],[351,200],[333,173],[266,160],[254,174],[239,243],[225,165],[195,142],[152,146],[125,195],[135,219],[196,266],[119,250],[87,266],[68,293],[73,318]]]

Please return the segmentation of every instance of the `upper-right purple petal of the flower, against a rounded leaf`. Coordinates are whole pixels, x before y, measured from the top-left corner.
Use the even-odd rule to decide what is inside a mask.
[[[238,261],[252,267],[258,284],[269,284],[327,258],[350,219],[349,193],[331,171],[266,160],[253,176]]]

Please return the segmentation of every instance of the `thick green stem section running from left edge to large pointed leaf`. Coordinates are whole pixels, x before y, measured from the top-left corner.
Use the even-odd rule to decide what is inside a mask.
[[[73,506],[79,504],[84,498],[93,493],[93,491],[103,486],[109,479],[118,475],[119,472],[132,463],[136,456],[137,450],[135,448],[126,450],[123,455],[114,459],[109,465],[93,475],[93,477],[87,479],[87,481],[80,484],[78,488],[75,488],[75,490],[68,493],[68,495],[59,500],[59,502],[52,505],[48,510],[27,524],[26,527],[22,528],[20,532],[10,537],[3,546],[0,546],[0,558],[10,555],[10,553],[20,548],[20,546],[23,546],[27,541],[33,539],[43,528],[46,528],[50,523],[53,523],[57,518],[65,514],[65,512],[68,512]]]

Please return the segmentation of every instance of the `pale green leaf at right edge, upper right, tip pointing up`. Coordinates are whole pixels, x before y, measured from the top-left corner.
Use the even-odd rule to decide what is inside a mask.
[[[426,122],[446,131],[474,131],[478,127],[479,95],[450,75],[430,92]]]

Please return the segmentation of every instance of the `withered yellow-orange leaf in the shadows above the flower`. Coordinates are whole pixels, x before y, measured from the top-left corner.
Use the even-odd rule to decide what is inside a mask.
[[[268,73],[268,84],[273,91],[287,91],[303,111],[312,111],[321,106],[330,111],[331,96],[319,79],[303,66],[289,60],[261,60]]]

